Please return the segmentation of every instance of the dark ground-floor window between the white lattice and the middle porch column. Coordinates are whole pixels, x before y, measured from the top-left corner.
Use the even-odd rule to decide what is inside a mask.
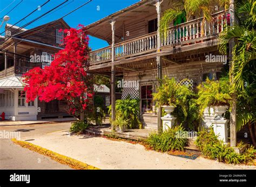
[[[152,112],[152,85],[141,87],[142,113]]]

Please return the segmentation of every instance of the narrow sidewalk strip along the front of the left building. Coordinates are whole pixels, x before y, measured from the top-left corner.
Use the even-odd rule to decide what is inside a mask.
[[[41,119],[36,121],[0,121],[0,126],[14,126],[14,125],[31,125],[31,124],[45,124],[45,123],[55,123],[64,121],[75,121],[76,118],[56,118],[56,119]]]

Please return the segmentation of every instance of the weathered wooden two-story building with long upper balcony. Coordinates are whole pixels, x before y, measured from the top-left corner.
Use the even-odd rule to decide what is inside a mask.
[[[159,130],[161,115],[156,112],[152,93],[158,78],[169,76],[177,81],[187,78],[186,84],[196,87],[206,77],[218,78],[226,61],[211,61],[219,56],[218,35],[229,24],[229,12],[212,8],[212,21],[191,17],[185,23],[170,23],[166,37],[161,37],[159,20],[163,12],[172,8],[170,1],[140,1],[87,25],[87,32],[103,39],[110,46],[90,52],[91,73],[111,78],[111,105],[114,118],[116,77],[131,82],[123,88],[125,98],[140,99],[140,113],[145,128]],[[207,60],[210,59],[210,60]],[[132,86],[138,82],[139,89]]]

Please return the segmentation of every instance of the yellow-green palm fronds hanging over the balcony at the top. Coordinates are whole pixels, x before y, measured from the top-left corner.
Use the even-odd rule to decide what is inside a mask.
[[[171,9],[164,12],[160,19],[160,33],[166,37],[167,31],[171,21],[175,20],[189,20],[191,16],[203,17],[203,27],[205,20],[212,20],[212,7],[213,3],[218,3],[220,6],[228,8],[229,0],[179,0],[173,3],[173,0],[169,1],[169,5],[172,4]],[[178,21],[177,24],[180,24]],[[201,30],[203,32],[203,30]],[[203,33],[202,33],[203,34]]]

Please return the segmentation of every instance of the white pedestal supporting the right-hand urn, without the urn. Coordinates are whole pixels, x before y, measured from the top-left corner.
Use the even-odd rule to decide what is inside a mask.
[[[214,119],[211,120],[211,123],[213,125],[213,131],[216,135],[218,135],[218,139],[223,141],[224,143],[228,142],[227,139],[227,123],[229,120],[224,119],[224,120],[219,120],[219,119]]]

